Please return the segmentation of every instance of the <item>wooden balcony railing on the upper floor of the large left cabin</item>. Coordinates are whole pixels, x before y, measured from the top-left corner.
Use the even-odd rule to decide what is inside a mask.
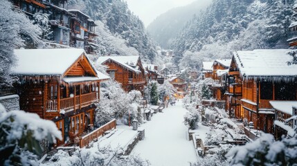
[[[80,109],[81,107],[92,104],[98,101],[98,95],[96,92],[77,95],[73,98],[62,98],[60,103],[58,100],[47,100],[46,111],[60,111],[67,109]]]

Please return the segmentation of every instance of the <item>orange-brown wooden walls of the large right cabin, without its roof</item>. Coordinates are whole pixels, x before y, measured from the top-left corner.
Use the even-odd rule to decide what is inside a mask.
[[[233,56],[228,71],[226,111],[236,118],[253,122],[254,129],[273,133],[275,113],[269,102],[297,100],[297,82],[294,77],[289,82],[281,76],[278,81],[269,78],[267,75],[245,77]]]

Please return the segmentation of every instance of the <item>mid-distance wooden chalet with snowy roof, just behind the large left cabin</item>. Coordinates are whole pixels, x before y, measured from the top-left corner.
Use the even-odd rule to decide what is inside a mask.
[[[125,91],[141,91],[145,86],[145,69],[139,56],[99,57],[98,64],[107,66],[109,76],[122,84]]]

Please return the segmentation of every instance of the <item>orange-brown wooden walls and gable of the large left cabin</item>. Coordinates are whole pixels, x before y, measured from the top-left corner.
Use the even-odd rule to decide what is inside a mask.
[[[61,49],[61,52],[64,50]],[[57,140],[57,145],[71,143],[84,131],[94,127],[95,103],[100,96],[100,78],[84,55],[84,51],[78,50],[81,53],[79,56],[73,55],[77,57],[75,62],[71,66],[66,66],[66,71],[61,75],[51,75],[51,70],[42,75],[14,73],[21,80],[20,84],[15,85],[20,109],[37,113],[40,118],[53,120],[62,132],[63,138]],[[19,54],[21,53],[19,51]],[[26,57],[21,56],[23,59]],[[35,70],[38,72],[38,68]]]

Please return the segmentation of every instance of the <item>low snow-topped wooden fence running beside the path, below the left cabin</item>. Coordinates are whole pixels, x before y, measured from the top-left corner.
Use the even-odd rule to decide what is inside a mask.
[[[95,129],[91,133],[88,133],[85,136],[80,138],[80,147],[86,147],[93,140],[96,140],[98,137],[102,136],[105,131],[116,129],[116,119],[109,121],[107,124],[104,124],[102,127]]]

